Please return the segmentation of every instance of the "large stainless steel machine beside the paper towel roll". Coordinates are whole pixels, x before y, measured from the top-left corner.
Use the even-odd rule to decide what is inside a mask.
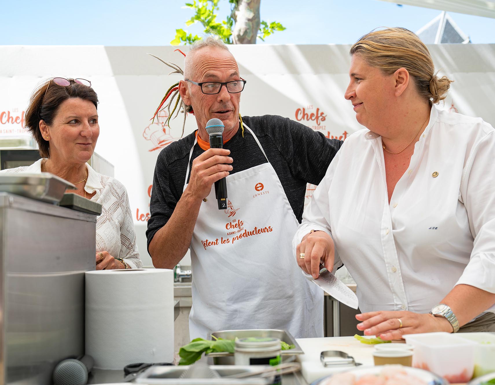
[[[84,354],[96,215],[0,193],[0,384],[51,384]]]

